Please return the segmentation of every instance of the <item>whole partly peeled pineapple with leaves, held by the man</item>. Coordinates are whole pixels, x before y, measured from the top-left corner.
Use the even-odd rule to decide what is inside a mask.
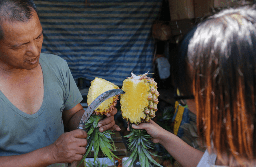
[[[88,106],[100,94],[111,89],[119,89],[119,87],[107,80],[96,77],[91,82],[91,86],[89,88],[89,92],[87,95]],[[96,158],[98,157],[99,148],[101,149],[102,153],[106,157],[108,157],[114,162],[113,157],[116,157],[116,156],[111,152],[111,150],[115,149],[115,146],[111,144],[111,142],[113,143],[113,140],[111,139],[112,133],[110,130],[106,130],[101,133],[99,131],[98,122],[102,120],[105,117],[105,115],[107,115],[108,113],[111,113],[112,109],[116,106],[117,100],[118,100],[118,95],[105,100],[103,103],[101,103],[97,107],[97,109],[95,109],[95,111],[89,117],[87,123],[85,124],[85,129],[88,137],[87,137],[86,153],[83,157],[83,160],[86,158],[89,152],[91,152],[92,146],[93,146],[94,163],[96,161]]]

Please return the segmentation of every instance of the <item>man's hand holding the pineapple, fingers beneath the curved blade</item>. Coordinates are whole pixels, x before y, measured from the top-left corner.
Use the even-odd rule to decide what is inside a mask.
[[[120,131],[120,127],[115,124],[114,115],[117,113],[117,109],[114,107],[112,112],[107,117],[98,122],[100,132],[104,132],[107,129]]]

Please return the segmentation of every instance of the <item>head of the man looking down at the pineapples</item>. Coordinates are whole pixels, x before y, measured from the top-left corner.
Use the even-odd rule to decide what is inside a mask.
[[[37,67],[43,30],[32,0],[0,1],[0,68],[5,71]]]

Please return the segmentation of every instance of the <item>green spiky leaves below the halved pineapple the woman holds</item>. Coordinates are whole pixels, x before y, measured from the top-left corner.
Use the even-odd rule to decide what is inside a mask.
[[[129,126],[131,129],[131,126]],[[146,130],[144,129],[131,129],[131,133],[129,135],[126,135],[124,137],[130,137],[128,139],[128,148],[131,150],[130,157],[125,160],[124,164],[131,161],[131,164],[129,167],[132,167],[136,164],[137,161],[140,161],[141,167],[152,167],[151,163],[163,167],[162,165],[158,164],[151,156],[158,156],[148,151],[148,149],[152,149],[152,142],[150,141],[150,138],[152,138],[150,135],[147,134]]]

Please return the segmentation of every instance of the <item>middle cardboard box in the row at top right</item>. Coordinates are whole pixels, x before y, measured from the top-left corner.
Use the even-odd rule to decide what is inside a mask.
[[[195,18],[205,16],[212,12],[213,1],[214,0],[194,0]]]

